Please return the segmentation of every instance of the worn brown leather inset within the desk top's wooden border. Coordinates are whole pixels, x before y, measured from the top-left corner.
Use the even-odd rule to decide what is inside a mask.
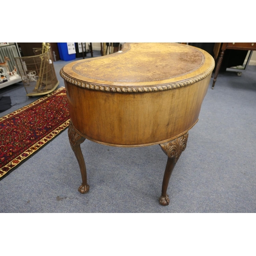
[[[169,51],[171,47],[172,52]],[[136,48],[139,48],[139,54],[133,51]],[[162,58],[159,58],[159,53]],[[148,44],[145,43],[142,46],[132,45],[130,49],[120,51],[115,56],[79,62],[72,70],[83,76],[84,80],[91,78],[110,82],[148,82],[191,73],[203,63],[204,55],[197,49],[191,51],[178,44],[159,44],[154,51],[148,51]]]

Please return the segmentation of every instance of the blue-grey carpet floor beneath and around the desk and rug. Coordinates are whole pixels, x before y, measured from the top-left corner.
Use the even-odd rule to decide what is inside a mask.
[[[97,55],[97,51],[94,52]],[[68,62],[54,62],[59,70]],[[66,130],[0,181],[0,212],[255,212],[256,66],[241,77],[220,73],[211,82],[199,122],[170,178],[170,204],[158,198],[167,157],[160,146],[81,144],[90,191],[79,193],[81,175]],[[0,90],[11,96],[6,115],[36,100],[22,83]]]

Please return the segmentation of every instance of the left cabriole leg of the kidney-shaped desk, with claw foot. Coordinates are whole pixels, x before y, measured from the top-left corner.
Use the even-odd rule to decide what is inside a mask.
[[[89,185],[87,184],[86,163],[84,162],[84,158],[83,158],[81,147],[80,147],[80,144],[85,140],[85,138],[77,134],[71,120],[69,124],[68,135],[69,135],[69,142],[70,142],[71,148],[75,153],[77,162],[80,167],[81,176],[82,176],[82,184],[78,188],[78,190],[80,193],[86,194],[89,191]]]

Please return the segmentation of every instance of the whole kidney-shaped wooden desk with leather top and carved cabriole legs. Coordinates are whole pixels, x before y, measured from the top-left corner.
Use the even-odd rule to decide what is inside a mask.
[[[60,71],[70,111],[68,130],[89,191],[80,144],[159,144],[167,155],[160,204],[168,205],[169,178],[199,117],[214,59],[204,50],[175,43],[124,44],[117,53],[74,61]]]

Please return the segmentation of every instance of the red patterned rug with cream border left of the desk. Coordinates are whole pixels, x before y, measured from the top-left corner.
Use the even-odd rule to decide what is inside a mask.
[[[69,121],[64,87],[0,117],[0,180],[63,132]]]

